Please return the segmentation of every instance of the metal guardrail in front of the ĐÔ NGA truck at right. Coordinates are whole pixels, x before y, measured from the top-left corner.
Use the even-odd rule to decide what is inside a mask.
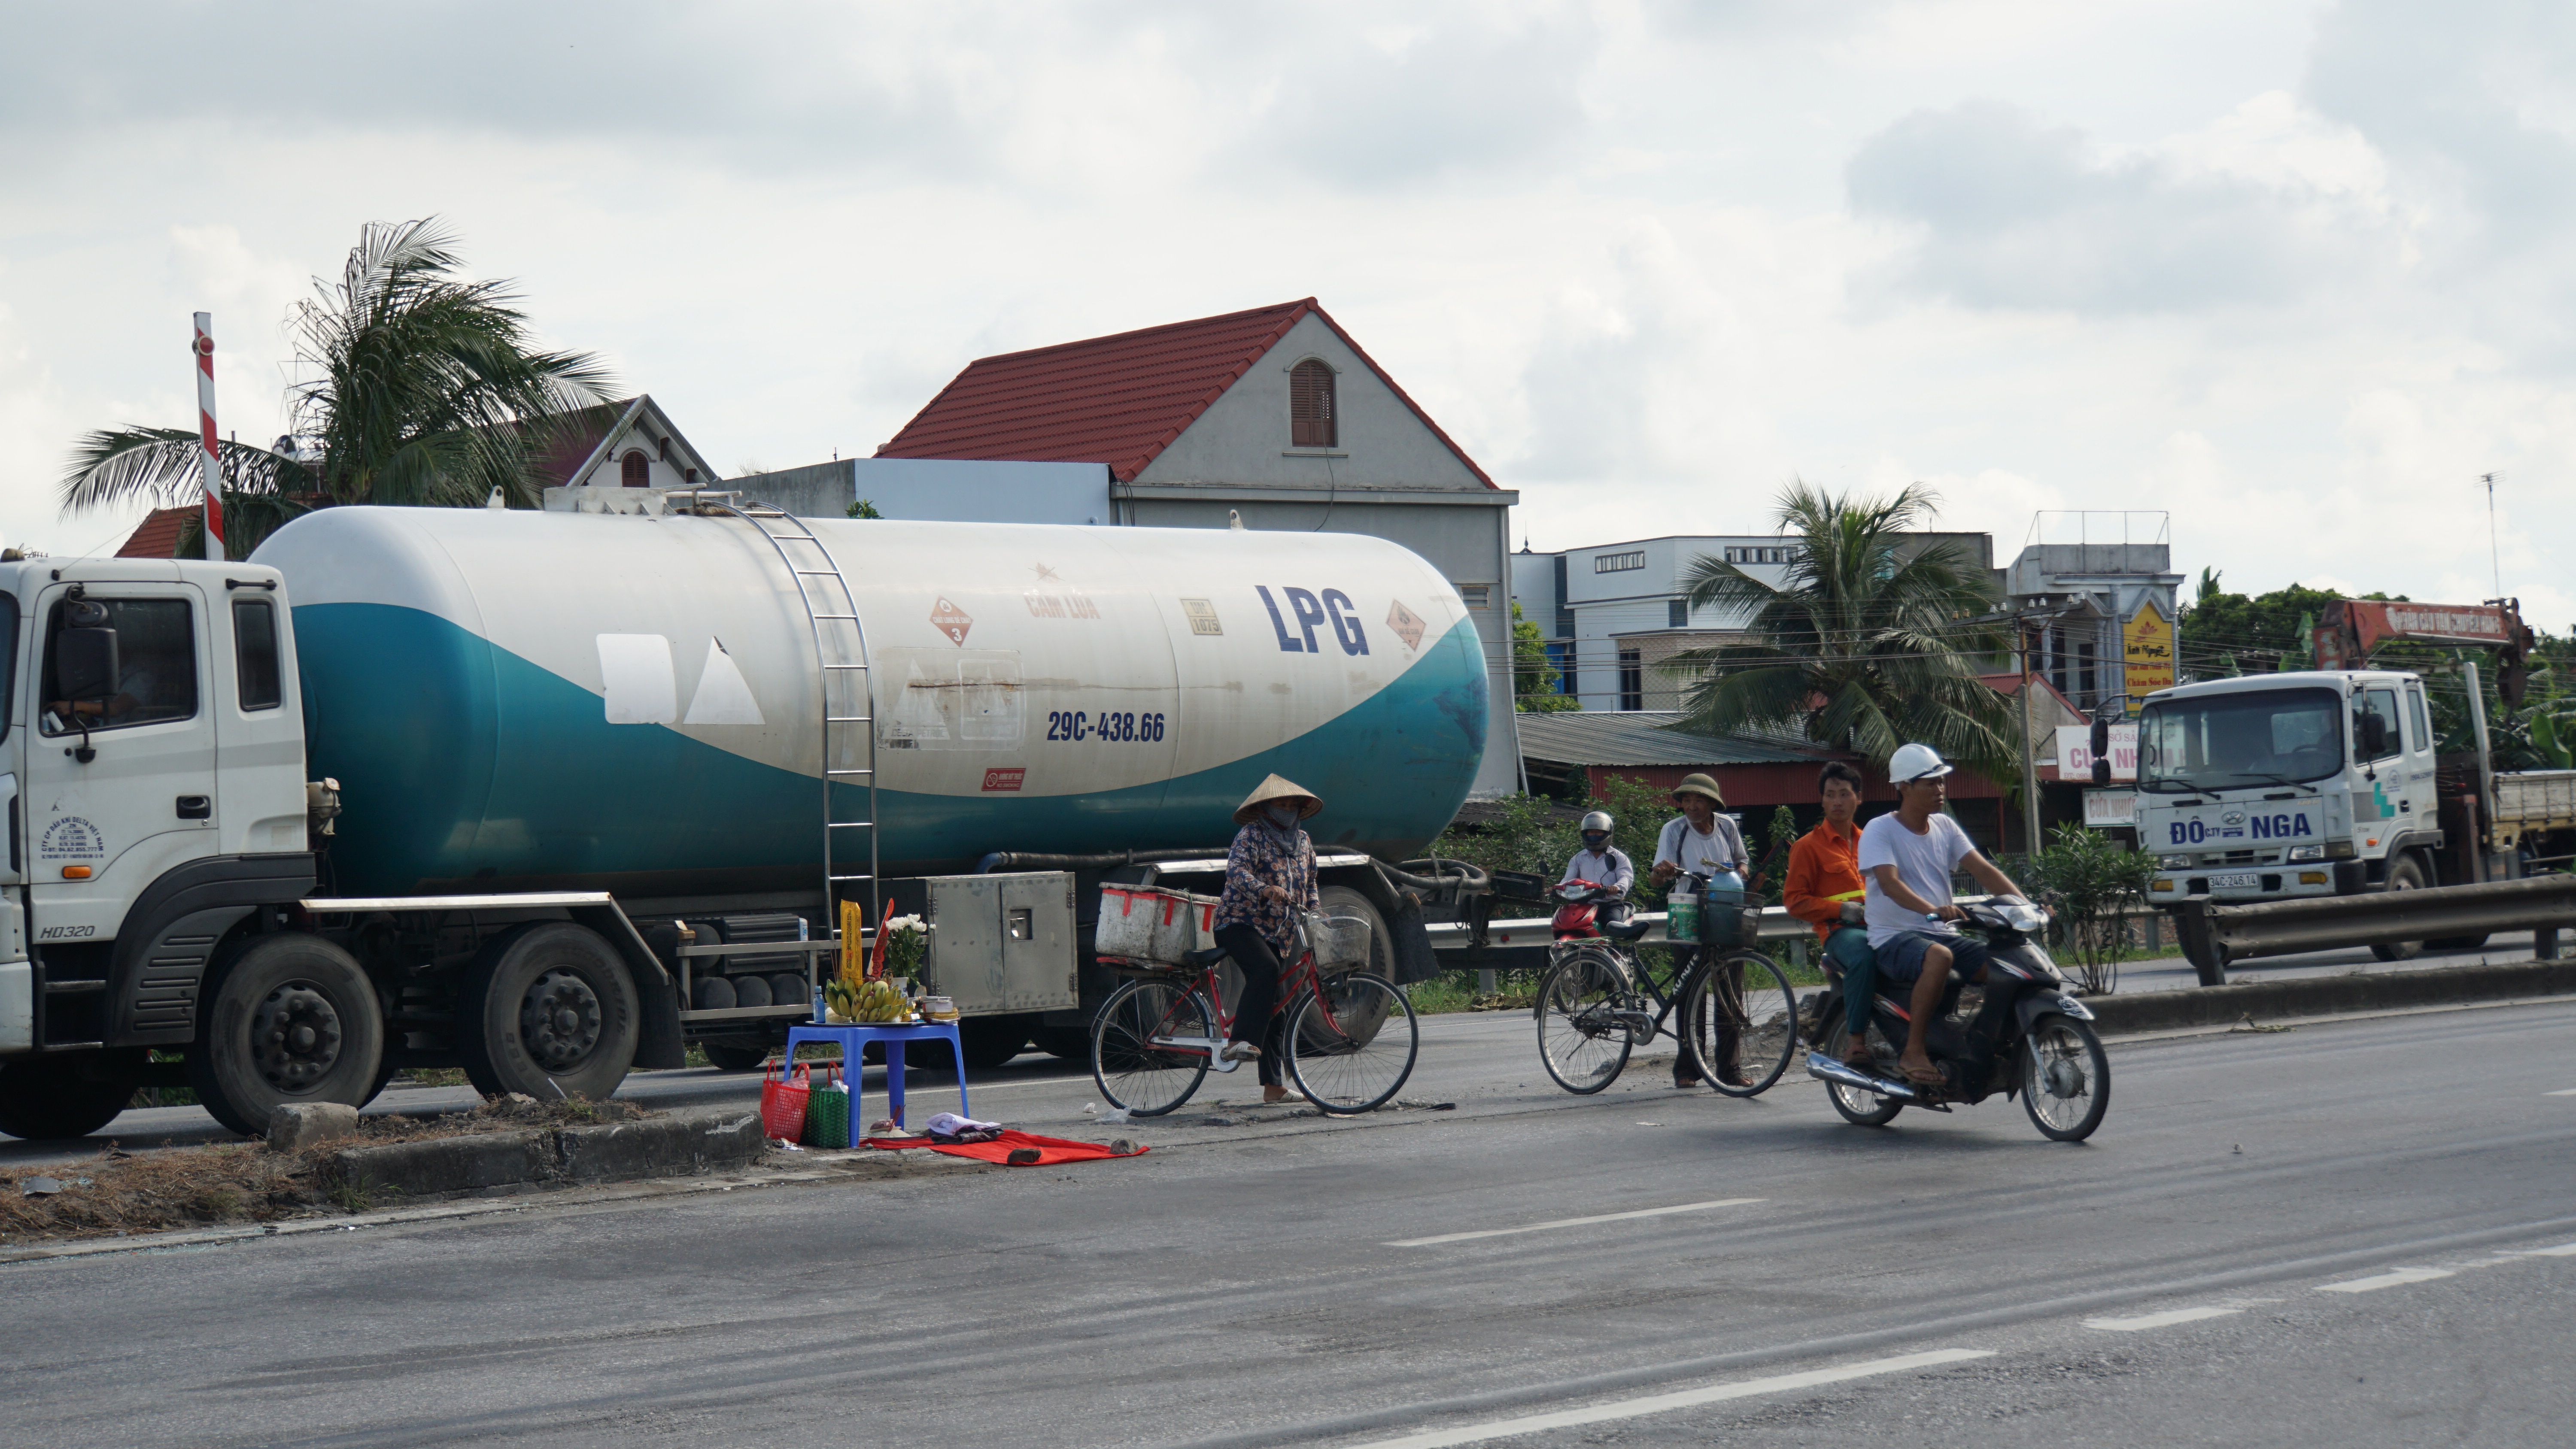
[[[2535,932],[2532,955],[2548,960],[2558,955],[2558,932],[2576,929],[2576,875],[2192,906],[2174,914],[2174,929],[2202,986],[2226,981],[2228,960],[2496,932]]]

